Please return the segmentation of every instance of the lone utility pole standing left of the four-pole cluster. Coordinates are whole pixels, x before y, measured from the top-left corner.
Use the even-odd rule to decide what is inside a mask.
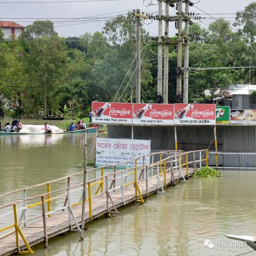
[[[136,10],[135,14],[140,15],[140,9]],[[136,69],[136,103],[141,103],[141,18],[139,15],[135,15],[137,18],[136,29],[136,52],[137,52],[137,69]]]

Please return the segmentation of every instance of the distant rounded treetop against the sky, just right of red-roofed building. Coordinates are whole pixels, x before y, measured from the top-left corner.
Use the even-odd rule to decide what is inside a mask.
[[[28,25],[25,32],[21,34],[26,40],[54,35],[57,35],[57,33],[54,31],[54,24],[51,20],[35,20],[33,24]]]

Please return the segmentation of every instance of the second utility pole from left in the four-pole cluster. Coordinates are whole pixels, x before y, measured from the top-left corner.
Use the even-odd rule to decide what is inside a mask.
[[[165,37],[169,34],[169,2],[165,3]],[[161,58],[162,59],[162,58]],[[159,61],[159,59],[158,59]],[[163,69],[163,103],[168,104],[168,70],[169,70],[169,44],[164,44],[164,69]]]

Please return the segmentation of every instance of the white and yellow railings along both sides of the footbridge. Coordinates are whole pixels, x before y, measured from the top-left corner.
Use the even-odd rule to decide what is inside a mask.
[[[149,157],[150,159],[149,164],[145,164],[146,157]],[[189,161],[191,157],[192,157],[192,160]],[[142,160],[141,165],[137,164],[138,160]],[[134,166],[117,171],[118,166],[121,166],[121,165],[123,166],[125,164],[129,166],[131,162],[134,163]],[[142,155],[135,159],[128,160],[126,162],[121,162],[119,164],[113,164],[113,165],[107,165],[103,167],[88,169],[88,172],[98,171],[98,170],[101,171],[101,176],[91,179],[86,183],[86,190],[88,195],[86,198],[86,202],[88,202],[88,207],[89,207],[88,213],[89,213],[90,220],[93,219],[93,210],[92,210],[93,198],[96,197],[97,195],[105,193],[106,206],[107,206],[108,213],[112,213],[110,211],[110,208],[111,208],[115,210],[116,214],[118,214],[116,206],[111,198],[111,193],[121,190],[121,202],[124,205],[125,204],[125,187],[129,185],[133,185],[135,187],[135,195],[134,195],[135,202],[143,203],[144,199],[138,184],[140,180],[145,180],[146,182],[146,196],[148,196],[148,193],[149,193],[148,178],[150,177],[155,177],[155,176],[157,177],[157,190],[158,191],[162,190],[162,192],[164,192],[164,187],[167,185],[166,176],[168,172],[171,173],[171,181],[173,178],[175,182],[173,170],[178,170],[179,178],[182,178],[185,181],[182,167],[186,167],[186,175],[188,175],[189,165],[192,166],[193,168],[197,168],[197,163],[199,163],[199,167],[202,166],[202,163],[204,163],[205,165],[208,165],[208,149],[195,150],[195,151],[189,151],[184,153],[182,151],[167,150],[162,152],[151,153],[148,155]],[[109,168],[113,168],[113,172],[104,174],[104,171],[107,169],[109,170]],[[28,222],[32,222],[36,219],[42,218],[43,226],[44,226],[44,236],[45,236],[44,247],[47,247],[48,239],[47,239],[46,218],[47,217],[50,218],[52,215],[60,211],[64,211],[65,209],[68,210],[68,223],[69,223],[70,230],[72,230],[71,221],[73,220],[76,226],[76,230],[81,232],[81,228],[74,216],[74,212],[72,208],[74,208],[79,204],[82,204],[82,196],[80,197],[80,200],[78,200],[78,202],[73,202],[73,203],[71,203],[71,196],[70,196],[71,193],[74,193],[75,191],[79,191],[83,189],[83,183],[78,183],[74,186],[70,185],[71,178],[81,174],[83,174],[83,171],[78,172],[76,174],[67,175],[52,181],[36,184],[27,188],[9,191],[7,193],[0,195],[0,199],[13,194],[21,193],[21,192],[23,196],[23,199],[21,200],[10,202],[0,206],[0,211],[3,209],[8,209],[10,207],[13,208],[11,211],[1,215],[0,220],[4,220],[4,218],[10,215],[13,215],[13,218],[14,218],[14,222],[12,224],[6,227],[0,228],[0,233],[13,228],[14,230],[0,236],[0,239],[15,232],[16,246],[18,247],[18,251],[19,251],[18,234],[20,234],[21,238],[23,239],[27,247],[27,253],[33,254],[33,251],[30,248],[29,244],[27,243],[27,240],[23,235],[20,229],[20,226],[22,224],[23,226],[26,226]],[[163,175],[164,177],[163,184],[160,177],[161,175]],[[59,189],[55,189],[51,191],[51,184],[62,182],[64,180],[67,180],[67,187],[61,187]],[[30,197],[27,196],[28,190],[43,187],[43,186],[46,186],[47,193],[34,195]],[[95,189],[93,189],[94,187]],[[61,207],[55,206],[55,209],[52,209],[51,202],[61,198],[64,199],[63,206]],[[28,203],[28,202],[33,202],[33,203]],[[46,203],[47,203],[47,209],[46,209]],[[22,205],[22,206],[18,208],[19,205]],[[112,205],[112,207],[110,205]],[[41,206],[42,213],[37,216],[27,218],[27,210],[38,207],[38,206]],[[18,212],[20,212],[19,220],[18,220]]]

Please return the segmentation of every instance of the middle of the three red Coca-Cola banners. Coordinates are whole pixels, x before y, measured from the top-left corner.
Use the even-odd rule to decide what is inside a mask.
[[[133,124],[173,125],[174,104],[133,104]]]

